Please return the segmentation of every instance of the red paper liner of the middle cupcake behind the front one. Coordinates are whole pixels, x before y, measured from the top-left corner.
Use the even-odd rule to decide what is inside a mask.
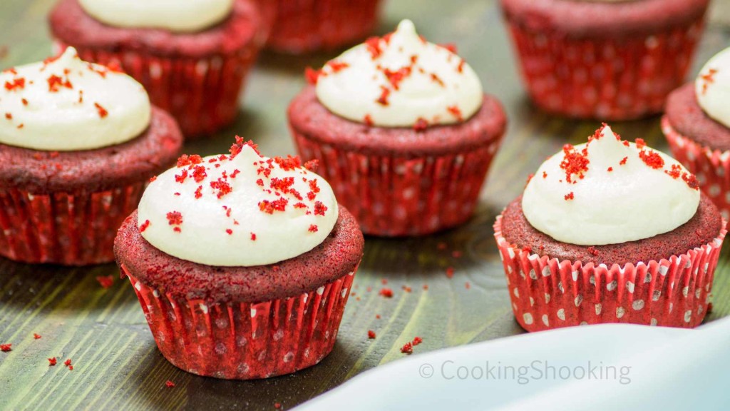
[[[292,133],[301,157],[318,159],[317,173],[361,230],[383,236],[425,235],[469,220],[502,143],[499,137],[470,151],[408,158],[347,151]]]

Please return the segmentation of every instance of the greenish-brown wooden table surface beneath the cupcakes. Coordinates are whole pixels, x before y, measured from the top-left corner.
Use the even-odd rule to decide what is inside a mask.
[[[0,55],[7,46],[0,67],[48,56],[45,15],[53,2],[0,1]],[[130,284],[116,276],[114,285],[104,289],[96,281],[118,274],[114,264],[64,268],[0,259],[0,343],[12,343],[11,352],[0,352],[0,409],[273,410],[275,403],[288,409],[359,372],[403,358],[400,347],[414,336],[423,338],[414,350],[418,355],[522,333],[512,318],[496,253],[494,218],[546,156],[566,142],[584,141],[599,122],[551,117],[529,104],[496,3],[391,0],[385,7],[380,33],[411,18],[431,41],[455,42],[485,91],[504,103],[510,125],[471,222],[424,238],[366,238],[337,344],[318,366],[256,381],[187,374],[158,352]],[[711,24],[693,75],[729,39]],[[209,140],[189,143],[185,152],[224,152],[238,134],[255,140],[264,154],[293,154],[285,108],[304,86],[304,67],[320,66],[328,57],[264,54],[248,79],[237,123]],[[642,137],[666,151],[658,117],[612,126],[627,139]],[[730,314],[729,257],[723,253],[715,273],[714,308],[707,321]],[[447,267],[455,270],[451,279]],[[378,295],[384,280],[393,298]],[[368,330],[377,339],[368,339]],[[42,338],[34,339],[34,333]],[[48,366],[50,357],[60,358],[58,366]],[[66,358],[72,359],[73,371],[61,365]],[[167,388],[167,380],[175,387]]]

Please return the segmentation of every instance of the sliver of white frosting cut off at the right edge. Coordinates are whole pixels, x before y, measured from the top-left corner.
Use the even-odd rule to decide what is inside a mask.
[[[730,48],[707,61],[694,84],[704,113],[730,127]]]

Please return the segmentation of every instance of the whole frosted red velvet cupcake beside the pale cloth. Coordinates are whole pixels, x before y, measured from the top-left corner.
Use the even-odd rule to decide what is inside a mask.
[[[726,221],[671,157],[607,126],[539,167],[494,224],[527,331],[702,323]]]

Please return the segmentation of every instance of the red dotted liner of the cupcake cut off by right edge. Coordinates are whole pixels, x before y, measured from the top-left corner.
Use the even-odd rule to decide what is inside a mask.
[[[661,129],[675,159],[697,177],[702,191],[718,206],[724,219],[730,219],[730,151],[713,150],[681,135],[661,118]]]

